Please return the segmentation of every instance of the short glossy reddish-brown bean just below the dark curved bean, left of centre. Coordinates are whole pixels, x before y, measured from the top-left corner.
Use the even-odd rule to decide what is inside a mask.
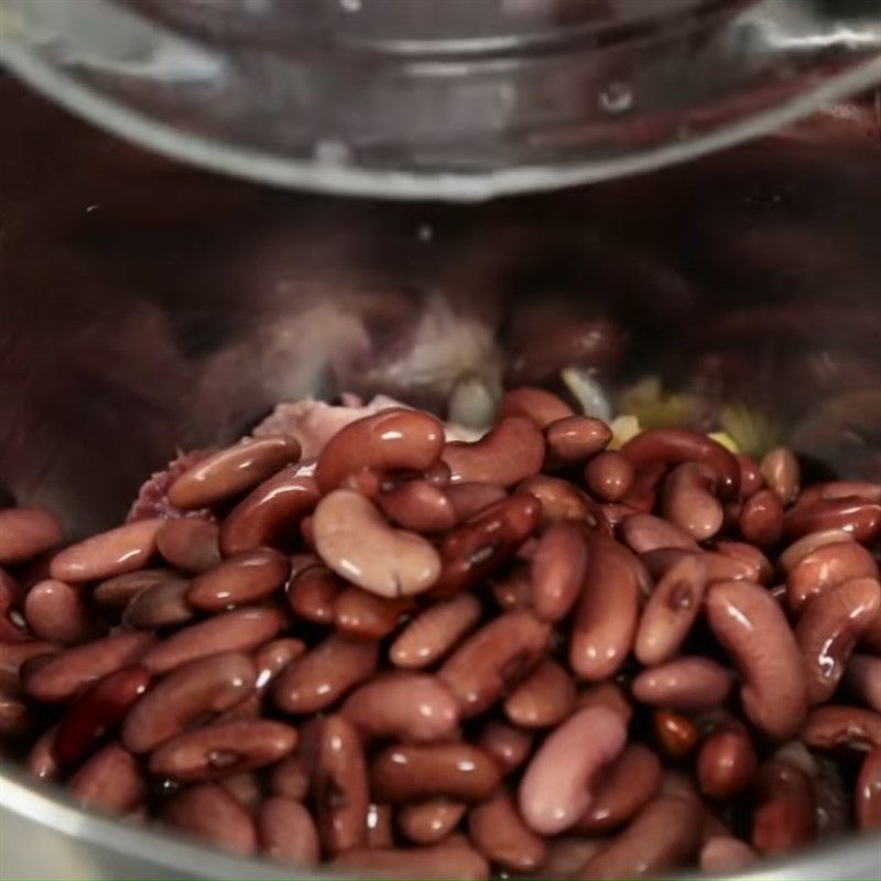
[[[279,551],[243,551],[194,578],[186,598],[191,606],[209,612],[246,606],[274,594],[290,573],[291,564]]]

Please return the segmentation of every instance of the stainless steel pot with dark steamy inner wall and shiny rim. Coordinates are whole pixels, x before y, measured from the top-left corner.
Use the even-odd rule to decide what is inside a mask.
[[[653,373],[737,401],[817,472],[879,479],[877,100],[651,177],[465,209],[204,176],[0,79],[0,482],[99,527],[175,445],[344,385],[438,403],[548,315],[626,329],[610,387]],[[416,382],[402,366],[432,327],[449,345],[421,351]],[[2,877],[282,873],[86,814],[14,757],[0,811]],[[744,877],[878,877],[879,845],[831,836]]]

